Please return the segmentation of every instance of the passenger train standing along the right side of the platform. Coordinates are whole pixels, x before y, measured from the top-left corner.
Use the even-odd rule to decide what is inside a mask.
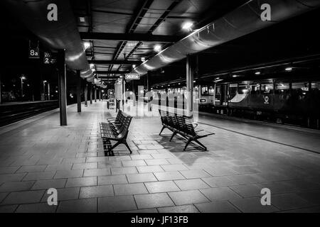
[[[154,99],[161,99],[164,93],[183,95],[186,91],[183,81],[168,85],[155,87],[153,91],[158,95]],[[198,79],[193,92],[198,92],[193,99],[198,99],[199,111],[319,129],[320,79],[317,77],[216,79],[214,82]]]

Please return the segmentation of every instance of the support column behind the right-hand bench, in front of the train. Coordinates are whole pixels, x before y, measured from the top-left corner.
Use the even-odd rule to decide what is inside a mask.
[[[194,57],[188,55],[186,58],[186,91],[188,94],[187,99],[187,116],[191,116],[193,113],[193,80],[194,80],[195,62]]]

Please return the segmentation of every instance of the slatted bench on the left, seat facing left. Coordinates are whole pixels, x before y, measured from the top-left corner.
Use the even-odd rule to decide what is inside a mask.
[[[113,155],[112,150],[121,143],[124,144],[128,148],[130,154],[132,154],[132,150],[127,143],[131,121],[132,116],[119,111],[116,118],[109,118],[107,119],[107,122],[100,123],[100,133],[104,148],[110,155]],[[112,145],[110,140],[117,141],[117,143]]]

